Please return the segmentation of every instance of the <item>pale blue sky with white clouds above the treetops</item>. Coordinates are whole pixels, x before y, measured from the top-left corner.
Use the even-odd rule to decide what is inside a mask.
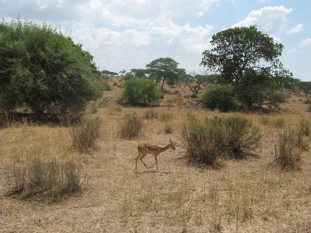
[[[100,70],[114,72],[159,57],[198,72],[213,34],[257,25],[284,45],[280,61],[303,81],[311,81],[310,9],[310,0],[0,0],[0,17],[69,30]]]

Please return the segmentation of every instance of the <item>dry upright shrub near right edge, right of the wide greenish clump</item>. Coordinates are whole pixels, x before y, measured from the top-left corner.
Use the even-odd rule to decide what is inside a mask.
[[[290,128],[277,134],[272,149],[274,163],[285,169],[297,169],[300,166],[301,150],[297,148],[294,131]]]

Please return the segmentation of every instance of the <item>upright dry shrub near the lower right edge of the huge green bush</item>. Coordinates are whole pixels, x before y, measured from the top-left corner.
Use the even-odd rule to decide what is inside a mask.
[[[103,134],[103,123],[99,118],[86,119],[70,130],[72,147],[78,152],[91,153],[96,149],[98,138]]]

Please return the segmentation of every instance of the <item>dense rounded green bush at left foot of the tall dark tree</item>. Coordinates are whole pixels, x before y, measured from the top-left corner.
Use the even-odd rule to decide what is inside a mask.
[[[229,85],[216,85],[208,88],[201,96],[201,100],[206,107],[222,112],[237,110],[238,101],[233,94],[233,89]]]

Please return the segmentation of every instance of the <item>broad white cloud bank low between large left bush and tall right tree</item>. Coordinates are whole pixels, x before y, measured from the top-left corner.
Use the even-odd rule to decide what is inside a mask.
[[[188,70],[198,69],[202,51],[208,49],[212,26],[176,25],[171,19],[155,20],[141,29],[117,32],[76,23],[71,36],[94,55],[96,65],[114,71],[143,68],[158,57],[172,57]]]

